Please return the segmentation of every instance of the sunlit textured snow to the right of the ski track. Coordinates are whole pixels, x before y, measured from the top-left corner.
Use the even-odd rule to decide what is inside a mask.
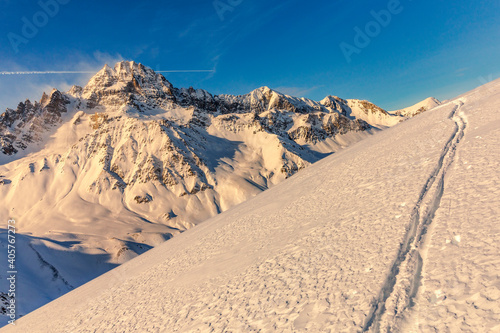
[[[424,240],[422,283],[402,332],[500,332],[500,117],[494,86],[468,94],[462,107],[466,135]]]

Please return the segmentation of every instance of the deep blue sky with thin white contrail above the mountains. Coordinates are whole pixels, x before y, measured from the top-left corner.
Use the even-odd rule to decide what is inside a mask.
[[[244,94],[266,85],[389,110],[500,76],[498,0],[41,2],[52,5],[0,0],[0,71],[97,71],[134,60],[155,70],[215,70],[165,74],[177,87]],[[375,20],[381,11],[388,24],[384,15],[383,24]],[[35,23],[35,32],[24,27]],[[356,31],[367,29],[356,44]],[[349,61],[341,45],[356,48]],[[90,76],[0,75],[0,110]]]

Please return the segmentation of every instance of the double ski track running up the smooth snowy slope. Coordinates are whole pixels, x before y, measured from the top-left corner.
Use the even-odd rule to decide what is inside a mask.
[[[407,234],[379,297],[372,306],[363,332],[397,330],[418,292],[424,265],[421,252],[425,246],[425,236],[441,204],[446,172],[454,161],[457,145],[465,133],[466,122],[460,112],[463,102],[456,103],[448,117],[455,122],[455,130],[446,142],[438,164],[427,179],[413,208]],[[421,218],[423,211],[425,214]]]

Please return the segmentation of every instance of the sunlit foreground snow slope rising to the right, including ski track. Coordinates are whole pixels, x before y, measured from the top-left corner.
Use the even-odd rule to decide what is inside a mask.
[[[498,331],[499,107],[497,80],[2,332]]]

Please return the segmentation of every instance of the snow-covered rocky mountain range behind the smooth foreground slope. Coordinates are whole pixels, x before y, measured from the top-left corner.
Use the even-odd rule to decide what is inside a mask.
[[[7,109],[0,219],[26,235],[20,269],[42,267],[19,281],[20,313],[404,119],[335,96],[176,88],[128,61]]]

